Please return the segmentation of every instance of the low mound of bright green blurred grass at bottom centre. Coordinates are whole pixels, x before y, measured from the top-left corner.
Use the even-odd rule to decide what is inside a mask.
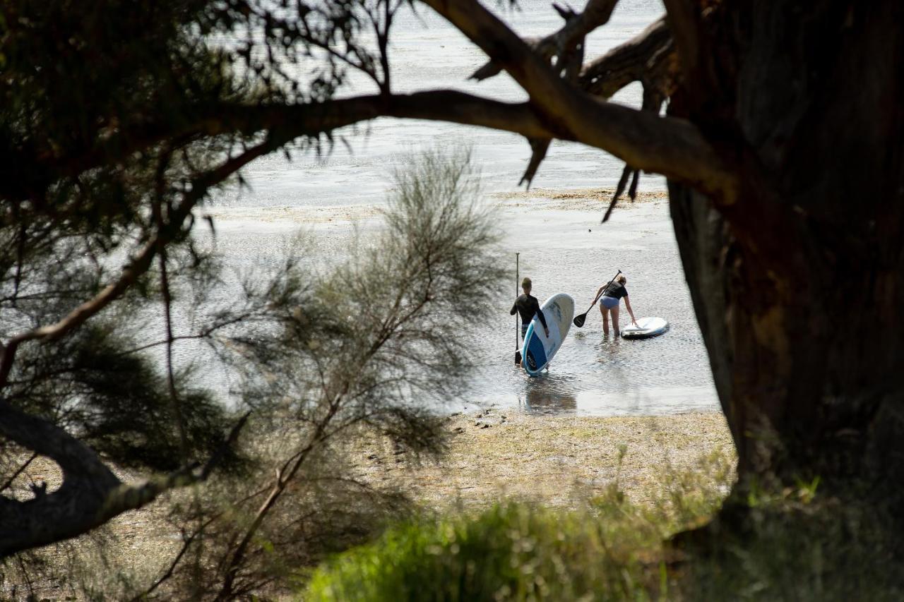
[[[411,522],[315,572],[313,600],[649,599],[666,593],[649,529],[523,504]],[[605,559],[604,561],[600,561]],[[594,593],[596,592],[596,593]]]

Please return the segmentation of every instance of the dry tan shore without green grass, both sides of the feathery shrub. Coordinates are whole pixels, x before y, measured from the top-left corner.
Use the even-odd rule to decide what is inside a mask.
[[[595,417],[494,408],[447,416],[442,428],[447,449],[438,461],[418,462],[374,438],[356,439],[347,459],[362,483],[407,494],[416,513],[437,517],[494,513],[512,503],[581,513],[616,490],[631,507],[645,508],[668,497],[674,475],[693,475],[693,483],[680,484],[691,495],[727,494],[733,480],[734,450],[719,412]],[[140,480],[115,470],[125,482]],[[27,496],[33,481],[45,481],[48,490],[61,484],[48,461],[36,460],[25,472],[12,486],[17,495]],[[176,492],[61,547],[39,550],[47,570],[33,575],[35,592],[50,599],[75,594],[80,575],[99,578],[92,566],[103,566],[102,580],[113,578],[119,587],[153,578],[179,548],[169,517],[189,497]],[[70,564],[72,552],[80,566]],[[11,582],[3,585],[10,593]]]

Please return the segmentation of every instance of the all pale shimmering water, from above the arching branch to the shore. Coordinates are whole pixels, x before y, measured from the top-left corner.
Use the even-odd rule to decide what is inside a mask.
[[[494,5],[495,6],[495,5]],[[519,33],[554,31],[560,19],[546,2],[521,3],[504,17]],[[505,100],[524,95],[507,76],[477,84],[467,76],[483,56],[460,33],[438,17],[420,11],[400,21],[391,47],[393,78],[400,91],[457,88]],[[588,41],[589,56],[605,52],[639,33],[662,12],[659,2],[623,0],[602,32]],[[356,81],[348,93],[371,92]],[[617,100],[639,105],[639,86]],[[542,301],[567,292],[577,313],[587,310],[597,288],[622,269],[638,317],[660,315],[670,322],[666,334],[642,341],[604,338],[598,308],[587,325],[571,332],[550,371],[531,378],[513,363],[514,318],[511,299],[501,302],[498,319],[475,327],[476,373],[466,402],[459,406],[499,405],[527,411],[581,412],[600,415],[661,414],[718,409],[708,359],[683,279],[667,205],[629,206],[599,225],[603,205],[593,211],[559,211],[542,199],[500,202],[492,193],[518,190],[516,184],[530,156],[524,139],[512,134],[453,124],[378,119],[344,130],[349,147],[336,145],[329,155],[282,155],[259,159],[245,177],[250,190],[225,193],[214,203],[219,221],[218,248],[236,266],[266,262],[278,255],[284,240],[305,227],[323,262],[344,257],[353,226],[375,224],[373,207],[390,188],[393,167],[421,148],[469,144],[482,171],[487,202],[501,204],[506,230],[504,249],[512,264],[521,253],[520,276],[534,282]],[[551,189],[614,187],[622,164],[610,155],[571,143],[555,143],[533,185]],[[655,176],[641,180],[641,190],[662,190]],[[622,306],[623,325],[628,316]]]

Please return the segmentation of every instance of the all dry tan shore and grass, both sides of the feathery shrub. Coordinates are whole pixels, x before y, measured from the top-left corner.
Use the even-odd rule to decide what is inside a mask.
[[[297,589],[265,588],[261,599],[374,601],[400,592],[406,599],[424,592],[585,599],[595,592],[682,600],[749,590],[758,600],[815,592],[891,600],[904,592],[872,562],[890,553],[881,517],[831,499],[815,503],[815,484],[749,501],[763,525],[749,539],[720,542],[720,554],[675,549],[670,538],[708,522],[735,479],[720,412],[594,417],[492,408],[447,416],[441,428],[448,440],[438,462],[418,463],[385,440],[355,439],[346,448],[353,474],[374,491],[408,494],[414,507],[386,514],[363,545],[296,567]],[[32,479],[59,485],[56,467],[40,459],[27,472],[13,486],[17,494]],[[138,478],[117,473],[126,482]],[[171,513],[190,499],[174,492],[77,540],[29,553],[30,588],[38,599],[133,597],[179,549]],[[0,583],[5,595],[26,591],[19,577]]]

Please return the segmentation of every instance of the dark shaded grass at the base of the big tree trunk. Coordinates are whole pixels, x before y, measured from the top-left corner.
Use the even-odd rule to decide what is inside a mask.
[[[723,514],[739,516],[743,527],[732,528],[723,516],[702,541],[689,544],[688,599],[904,596],[897,519],[888,510],[815,493],[805,484]]]

